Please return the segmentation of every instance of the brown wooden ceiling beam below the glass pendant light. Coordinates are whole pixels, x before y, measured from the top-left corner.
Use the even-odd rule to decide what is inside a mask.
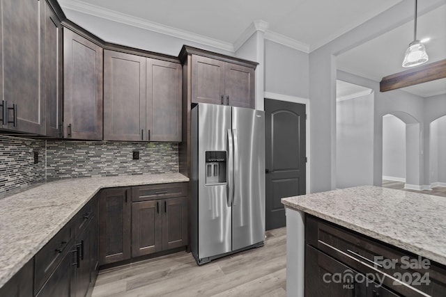
[[[383,77],[379,83],[379,89],[381,92],[386,92],[445,77],[446,59]]]

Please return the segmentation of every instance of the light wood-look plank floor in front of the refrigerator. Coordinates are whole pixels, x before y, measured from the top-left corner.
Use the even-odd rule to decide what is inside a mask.
[[[93,297],[286,296],[286,228],[266,232],[265,246],[197,266],[192,254],[100,271]]]

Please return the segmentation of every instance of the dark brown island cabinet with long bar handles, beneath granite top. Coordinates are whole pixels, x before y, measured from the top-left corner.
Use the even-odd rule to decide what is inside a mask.
[[[419,297],[445,291],[445,266],[305,216],[305,296]]]

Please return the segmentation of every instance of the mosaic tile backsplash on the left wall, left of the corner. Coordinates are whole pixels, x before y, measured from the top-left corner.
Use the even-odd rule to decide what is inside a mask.
[[[38,163],[34,163],[34,152]],[[0,136],[0,197],[45,181],[45,141]]]

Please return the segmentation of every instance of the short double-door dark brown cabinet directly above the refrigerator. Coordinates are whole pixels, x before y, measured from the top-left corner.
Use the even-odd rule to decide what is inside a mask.
[[[187,46],[180,60],[190,67],[191,103],[255,108],[257,63]]]

